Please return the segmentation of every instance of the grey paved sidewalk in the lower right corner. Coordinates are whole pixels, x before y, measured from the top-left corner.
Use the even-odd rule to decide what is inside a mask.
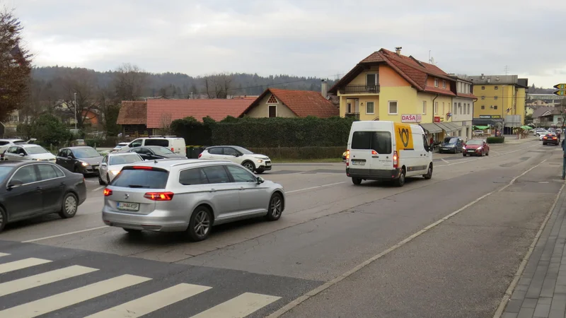
[[[565,201],[562,191],[502,318],[566,317]]]

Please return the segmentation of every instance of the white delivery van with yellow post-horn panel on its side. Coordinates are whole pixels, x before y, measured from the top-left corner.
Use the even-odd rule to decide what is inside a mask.
[[[392,180],[403,187],[405,177],[432,178],[432,148],[419,125],[398,122],[353,122],[346,153],[346,175],[362,180]]]

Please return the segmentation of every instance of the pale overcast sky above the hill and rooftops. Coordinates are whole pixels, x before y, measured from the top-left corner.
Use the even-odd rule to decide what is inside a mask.
[[[37,66],[334,78],[380,48],[448,73],[566,82],[566,1],[0,0]]]

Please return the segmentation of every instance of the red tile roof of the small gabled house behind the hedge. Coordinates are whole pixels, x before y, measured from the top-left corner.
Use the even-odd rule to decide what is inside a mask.
[[[340,110],[319,92],[312,90],[283,90],[279,88],[267,88],[267,90],[250,105],[248,110],[258,105],[267,94],[275,95],[277,100],[289,107],[289,110],[294,112],[298,117],[316,116],[328,118],[340,115]]]

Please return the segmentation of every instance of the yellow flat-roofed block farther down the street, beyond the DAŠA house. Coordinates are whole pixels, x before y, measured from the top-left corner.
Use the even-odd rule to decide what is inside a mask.
[[[525,123],[527,78],[516,75],[469,76],[478,100],[474,102],[473,124],[497,124],[511,133],[512,127]],[[499,124],[499,125],[501,125]]]

